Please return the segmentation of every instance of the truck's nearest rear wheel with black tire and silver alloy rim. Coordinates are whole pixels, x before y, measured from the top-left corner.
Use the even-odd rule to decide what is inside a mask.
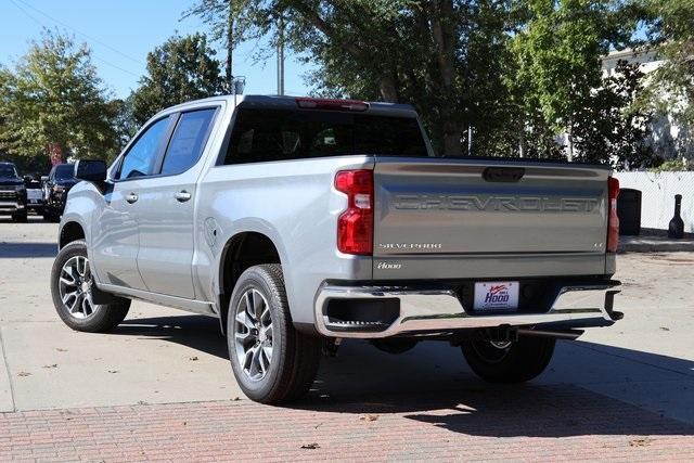
[[[261,329],[256,330],[255,337],[247,336],[252,329],[248,324],[254,324],[253,318],[245,323],[236,319],[237,310],[244,312],[243,320],[246,320],[247,303],[246,293],[252,293],[252,306],[254,311],[262,313],[266,309],[256,309],[255,303],[257,292],[262,296],[261,307],[269,310],[269,320],[272,325],[271,340],[269,343],[271,360],[267,355],[264,357],[264,347],[268,346],[268,338],[260,334]],[[242,303],[244,298],[244,303]],[[258,317],[258,323],[262,323],[262,313]],[[292,322],[290,306],[284,288],[284,278],[282,267],[277,263],[254,266],[244,271],[231,295],[227,320],[227,345],[229,347],[229,359],[231,368],[236,377],[236,382],[244,394],[261,403],[282,403],[295,400],[304,396],[310,388],[321,358],[321,340],[318,337],[309,336],[298,332]],[[267,318],[266,318],[267,321]],[[255,326],[260,326],[255,324]],[[243,340],[236,344],[237,331],[243,332],[240,336]],[[267,332],[266,332],[267,333]],[[244,371],[243,361],[247,361],[248,351],[255,346],[260,349],[259,359],[266,359],[266,369],[262,372],[256,370],[258,377],[252,377],[253,368],[248,372]],[[252,359],[255,356],[250,356]],[[269,366],[267,366],[269,362]]]

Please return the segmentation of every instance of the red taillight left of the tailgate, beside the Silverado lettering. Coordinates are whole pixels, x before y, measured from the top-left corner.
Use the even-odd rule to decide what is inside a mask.
[[[371,256],[373,253],[373,171],[340,170],[335,189],[347,195],[347,209],[337,218],[340,253]]]

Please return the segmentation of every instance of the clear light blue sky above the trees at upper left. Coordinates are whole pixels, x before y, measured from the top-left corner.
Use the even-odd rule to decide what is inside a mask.
[[[0,0],[0,64],[11,67],[43,28],[57,29],[86,42],[107,89],[126,98],[145,74],[146,54],[176,34],[206,33],[197,17],[181,20],[194,0]],[[277,94],[274,55],[257,63],[255,41],[234,51],[234,75],[246,77],[246,94]],[[224,61],[220,44],[217,59]],[[304,76],[310,67],[288,55],[284,68],[286,94],[309,92]]]

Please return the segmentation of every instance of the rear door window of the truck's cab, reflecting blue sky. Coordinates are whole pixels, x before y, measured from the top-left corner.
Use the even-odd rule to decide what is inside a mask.
[[[190,169],[205,149],[215,108],[181,114],[166,149],[162,175],[176,175]]]

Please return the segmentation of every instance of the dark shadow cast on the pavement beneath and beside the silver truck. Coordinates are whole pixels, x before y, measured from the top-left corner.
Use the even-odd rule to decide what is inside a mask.
[[[113,333],[151,336],[228,358],[219,322],[207,317],[127,320]],[[499,386],[474,376],[460,350],[446,343],[421,343],[409,352],[394,356],[365,342],[346,342],[336,358],[322,360],[308,397],[286,407],[351,413],[358,415],[356,419],[398,413],[454,433],[489,437],[694,435],[692,424],[655,412],[658,401],[672,394],[685,408],[694,409],[694,394],[678,389],[682,382],[677,381],[694,386],[694,362],[592,343],[562,342],[550,366],[530,384]],[[548,378],[550,384],[543,384]],[[612,381],[618,388],[630,382],[646,382],[657,385],[658,391],[646,396],[642,408],[619,400],[619,396],[611,398],[580,386],[601,381]]]

